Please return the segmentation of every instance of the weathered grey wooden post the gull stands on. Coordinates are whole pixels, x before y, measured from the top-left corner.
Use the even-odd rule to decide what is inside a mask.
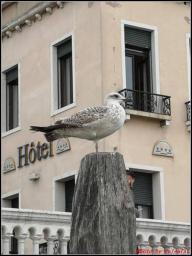
[[[82,159],[70,236],[70,254],[136,254],[136,214],[121,154]]]

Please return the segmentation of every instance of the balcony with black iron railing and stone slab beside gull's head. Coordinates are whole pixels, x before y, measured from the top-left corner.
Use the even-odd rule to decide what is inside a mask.
[[[133,115],[160,120],[161,127],[169,125],[171,120],[171,96],[130,89],[120,90],[119,94],[133,100],[133,103],[128,102],[123,105],[127,120],[130,119],[130,115]]]

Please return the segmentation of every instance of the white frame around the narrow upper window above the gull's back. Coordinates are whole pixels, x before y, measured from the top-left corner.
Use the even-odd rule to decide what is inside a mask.
[[[66,41],[66,38],[71,37],[72,41],[72,76],[73,76],[73,103],[58,109],[58,65],[57,65],[57,46]],[[61,38],[51,42],[51,116],[66,111],[76,106],[76,90],[75,90],[75,41],[74,31],[63,35]]]

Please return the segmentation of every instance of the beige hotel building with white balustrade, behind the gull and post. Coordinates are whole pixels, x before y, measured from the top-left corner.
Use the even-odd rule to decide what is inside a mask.
[[[95,145],[29,128],[111,92],[133,103],[99,151],[118,151],[136,175],[138,244],[189,249],[190,2],[3,2],[2,26],[4,252],[53,252],[59,239],[67,253],[79,164]]]

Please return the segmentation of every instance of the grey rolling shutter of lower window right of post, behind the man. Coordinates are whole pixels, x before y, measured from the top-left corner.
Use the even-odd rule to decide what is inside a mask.
[[[133,185],[135,204],[152,206],[152,174],[134,172],[136,178]]]

